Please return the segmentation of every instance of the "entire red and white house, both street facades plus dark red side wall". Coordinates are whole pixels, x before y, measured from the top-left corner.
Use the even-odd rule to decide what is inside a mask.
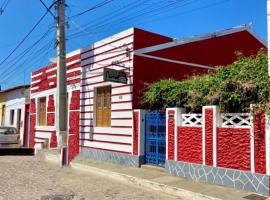
[[[144,136],[136,110],[147,108],[145,83],[207,73],[235,61],[236,51],[249,56],[261,48],[266,45],[248,27],[184,39],[130,28],[67,54],[69,161],[80,151],[139,166]],[[56,64],[31,76],[30,146],[55,148]]]

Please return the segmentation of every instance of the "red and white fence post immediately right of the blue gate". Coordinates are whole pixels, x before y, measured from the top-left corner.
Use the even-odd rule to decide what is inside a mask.
[[[178,126],[182,124],[184,108],[166,109],[166,160],[177,161]]]

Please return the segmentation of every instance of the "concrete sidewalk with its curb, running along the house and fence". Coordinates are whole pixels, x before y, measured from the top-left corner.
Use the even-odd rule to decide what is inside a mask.
[[[56,163],[57,157],[55,153],[55,151],[46,151],[45,159]],[[106,176],[108,178],[134,184],[145,189],[164,192],[166,194],[178,196],[181,199],[269,199],[255,193],[170,176],[162,169],[155,169],[147,166],[142,168],[126,167],[78,156],[71,163],[71,168],[85,171],[87,173]]]

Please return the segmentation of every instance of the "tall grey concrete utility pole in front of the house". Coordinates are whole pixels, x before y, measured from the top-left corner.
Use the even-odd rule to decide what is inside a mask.
[[[66,85],[66,36],[65,0],[56,0],[57,6],[57,89],[56,132],[60,165],[67,165],[67,85]]]

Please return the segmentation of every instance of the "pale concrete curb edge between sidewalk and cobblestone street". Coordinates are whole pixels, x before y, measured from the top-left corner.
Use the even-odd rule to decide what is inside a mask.
[[[57,157],[55,155],[45,154],[45,159],[47,161],[57,163]],[[79,163],[71,163],[70,165],[71,165],[72,169],[75,169],[75,170],[78,170],[78,171],[84,171],[84,172],[88,172],[88,173],[92,173],[92,174],[98,174],[98,175],[106,176],[106,177],[109,177],[109,178],[117,180],[117,181],[122,181],[122,182],[133,184],[133,185],[136,185],[136,186],[139,186],[139,187],[143,187],[143,188],[163,192],[163,193],[173,195],[173,196],[177,196],[177,197],[180,197],[180,198],[183,198],[183,199],[221,200],[219,198],[203,195],[203,194],[196,193],[196,192],[191,192],[191,191],[184,190],[184,189],[181,189],[181,188],[176,188],[176,187],[173,187],[173,186],[168,186],[168,185],[165,185],[165,184],[162,184],[162,183],[149,181],[149,180],[146,180],[146,179],[143,179],[143,178],[137,178],[137,177],[129,176],[129,175],[126,175],[126,174],[120,174],[120,173],[117,173],[117,172],[112,172],[112,171],[109,171],[109,170],[99,169],[99,168],[96,168],[96,167],[90,167],[88,165],[83,165],[83,164],[79,164]]]

